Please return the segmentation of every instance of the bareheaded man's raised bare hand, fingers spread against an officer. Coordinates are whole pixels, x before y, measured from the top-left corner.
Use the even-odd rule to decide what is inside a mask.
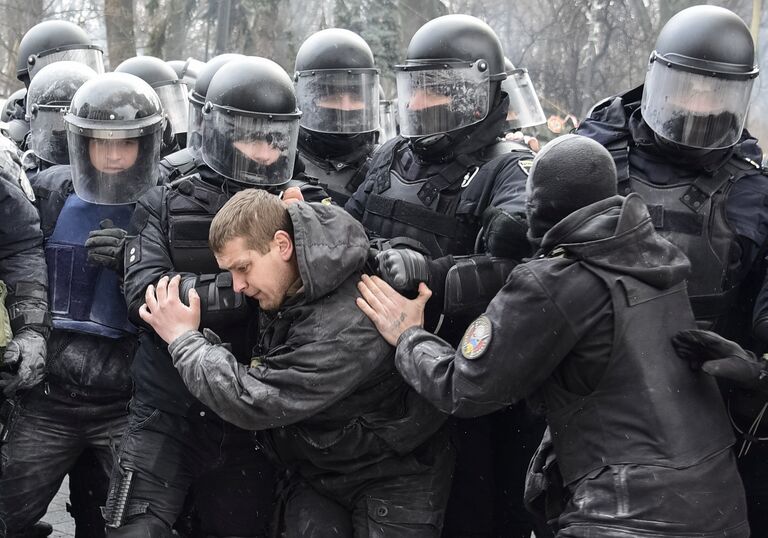
[[[187,331],[195,331],[200,326],[200,297],[194,288],[187,296],[189,306],[179,298],[179,281],[176,275],[170,282],[164,276],[157,283],[157,288],[151,284],[144,294],[146,301],[139,308],[139,316],[152,326],[157,335],[167,344]]]

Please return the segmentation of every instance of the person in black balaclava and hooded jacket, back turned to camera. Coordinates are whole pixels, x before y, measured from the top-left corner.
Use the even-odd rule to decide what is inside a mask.
[[[400,373],[452,414],[521,398],[545,411],[550,454],[537,459],[553,471],[556,458],[558,537],[749,536],[717,386],[671,342],[695,326],[688,259],[654,232],[638,195],[615,195],[613,160],[592,140],[550,142],[528,184],[537,253],[457,348],[419,327],[426,288],[409,302],[364,278],[358,305],[397,345]]]

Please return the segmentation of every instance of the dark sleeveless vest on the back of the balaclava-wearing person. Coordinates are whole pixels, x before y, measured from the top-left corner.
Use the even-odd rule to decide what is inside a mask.
[[[565,484],[607,465],[681,469],[731,445],[715,380],[691,371],[672,348],[672,335],[693,324],[684,283],[659,290],[584,266],[610,289],[619,336],[595,390],[547,413]],[[564,390],[556,382],[547,389]]]

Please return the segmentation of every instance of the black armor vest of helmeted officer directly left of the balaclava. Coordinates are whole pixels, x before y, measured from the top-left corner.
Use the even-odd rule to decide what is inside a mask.
[[[393,166],[405,144],[407,140],[395,138],[374,154],[363,226],[378,237],[414,239],[434,258],[473,253],[480,223],[461,209],[464,189],[478,175],[482,181],[488,180],[481,169],[489,161],[516,151],[530,157],[530,151],[516,142],[499,140],[476,153],[436,165],[430,176],[407,179]]]

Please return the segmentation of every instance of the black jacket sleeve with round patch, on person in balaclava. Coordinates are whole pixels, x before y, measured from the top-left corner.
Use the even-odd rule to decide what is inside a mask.
[[[518,265],[483,314],[491,337],[481,355],[467,359],[461,344],[456,350],[411,328],[400,337],[395,363],[405,380],[441,411],[460,417],[491,413],[541,386],[580,338],[591,313],[579,313],[575,306],[566,311],[562,305],[578,302],[563,299],[553,296],[527,264]]]

